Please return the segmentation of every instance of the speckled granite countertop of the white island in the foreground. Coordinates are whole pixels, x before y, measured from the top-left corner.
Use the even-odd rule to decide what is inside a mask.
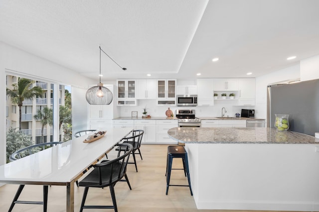
[[[315,143],[319,139],[275,128],[171,128],[168,136],[181,143]]]

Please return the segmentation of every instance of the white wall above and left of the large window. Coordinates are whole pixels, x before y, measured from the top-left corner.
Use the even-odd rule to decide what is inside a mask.
[[[64,85],[71,85],[86,89],[89,84],[95,83],[91,79],[78,74],[75,71],[52,63],[43,58],[24,52],[15,47],[0,42],[0,99],[6,99],[6,73],[15,73],[16,75],[30,76],[30,78],[46,80]],[[76,80],[75,80],[76,79]],[[5,104],[0,104],[0,164],[5,163]],[[83,105],[84,113],[87,113],[87,104]]]

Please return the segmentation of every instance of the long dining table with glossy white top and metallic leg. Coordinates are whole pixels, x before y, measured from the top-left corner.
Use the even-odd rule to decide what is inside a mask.
[[[132,130],[107,129],[97,141],[84,143],[86,135],[1,165],[0,183],[66,186],[66,212],[74,212],[74,182]]]

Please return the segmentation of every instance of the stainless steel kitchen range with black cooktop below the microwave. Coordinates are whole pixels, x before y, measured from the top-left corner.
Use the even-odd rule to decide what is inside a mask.
[[[200,127],[200,119],[195,117],[195,110],[176,110],[178,127]]]

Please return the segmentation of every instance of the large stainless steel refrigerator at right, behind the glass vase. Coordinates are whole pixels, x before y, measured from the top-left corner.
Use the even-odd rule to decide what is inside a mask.
[[[319,132],[319,79],[267,88],[267,127],[275,114],[289,114],[289,131],[315,136]]]

